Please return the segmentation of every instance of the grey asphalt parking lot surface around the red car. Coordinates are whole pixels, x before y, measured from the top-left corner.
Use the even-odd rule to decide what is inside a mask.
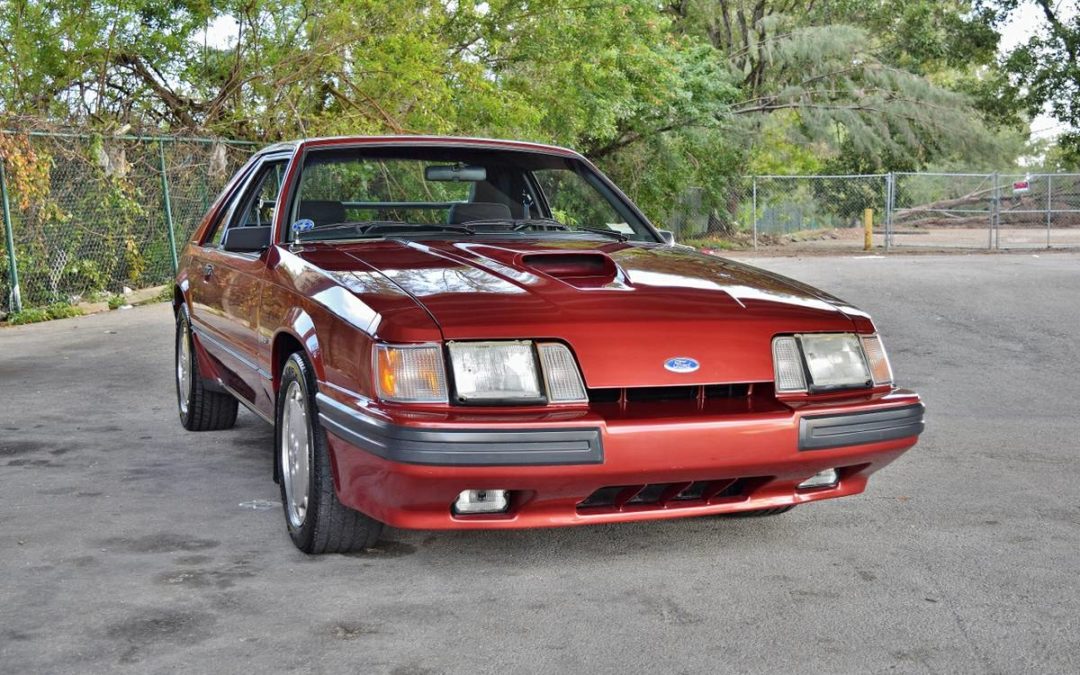
[[[1080,256],[756,258],[875,316],[921,443],[772,518],[293,548],[165,305],[0,329],[0,671],[1080,672]]]

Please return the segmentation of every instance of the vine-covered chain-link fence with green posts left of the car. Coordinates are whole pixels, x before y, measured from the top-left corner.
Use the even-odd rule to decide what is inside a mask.
[[[253,149],[211,138],[0,133],[3,308],[167,282],[176,252]]]

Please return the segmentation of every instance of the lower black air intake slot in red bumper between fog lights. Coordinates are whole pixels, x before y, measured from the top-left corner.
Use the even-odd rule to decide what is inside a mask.
[[[611,512],[671,509],[742,501],[762,478],[717,478],[692,483],[649,483],[602,487],[578,503],[578,511]]]

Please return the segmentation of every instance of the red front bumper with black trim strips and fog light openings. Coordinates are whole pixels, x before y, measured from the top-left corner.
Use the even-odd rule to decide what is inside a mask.
[[[704,410],[651,405],[636,413],[592,406],[390,417],[325,394],[318,405],[340,501],[416,529],[670,518],[854,495],[923,429],[922,403],[905,390],[800,407],[740,399]],[[835,486],[798,488],[831,468],[839,470]],[[679,497],[700,486],[699,498]],[[582,504],[613,487],[623,489],[600,492],[618,492],[613,503]],[[467,489],[511,490],[510,510],[453,514]],[[635,501],[635,494],[657,499]]]

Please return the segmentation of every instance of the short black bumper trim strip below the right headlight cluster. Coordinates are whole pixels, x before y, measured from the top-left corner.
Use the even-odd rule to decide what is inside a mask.
[[[799,449],[864,445],[917,436],[926,429],[926,407],[921,403],[887,410],[819,415],[799,420]]]

